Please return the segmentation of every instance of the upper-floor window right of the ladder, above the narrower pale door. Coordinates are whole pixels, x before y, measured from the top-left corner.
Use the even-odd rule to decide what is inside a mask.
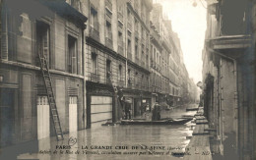
[[[77,39],[68,35],[68,72],[78,74]]]

